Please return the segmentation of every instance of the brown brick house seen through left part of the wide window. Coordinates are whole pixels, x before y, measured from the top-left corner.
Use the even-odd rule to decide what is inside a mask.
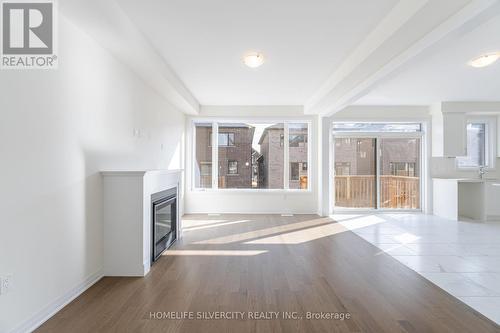
[[[245,124],[219,125],[219,188],[252,187],[252,140],[255,128]],[[212,127],[196,126],[196,160],[200,187],[211,187]]]

